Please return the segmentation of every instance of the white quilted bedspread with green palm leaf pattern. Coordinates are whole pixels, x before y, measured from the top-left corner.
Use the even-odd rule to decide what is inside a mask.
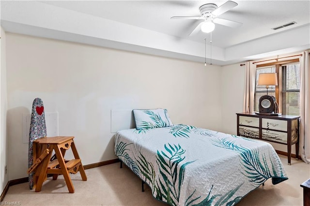
[[[184,124],[119,131],[114,150],[172,206],[233,206],[268,178],[288,179],[269,143]]]

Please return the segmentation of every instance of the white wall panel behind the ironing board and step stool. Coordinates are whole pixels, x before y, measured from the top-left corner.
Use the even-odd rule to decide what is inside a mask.
[[[23,114],[23,143],[28,144],[31,114]],[[58,136],[58,112],[45,113],[47,136]]]

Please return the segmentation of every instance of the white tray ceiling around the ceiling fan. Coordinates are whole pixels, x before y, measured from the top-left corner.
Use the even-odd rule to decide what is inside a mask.
[[[188,36],[198,20],[171,16],[200,16],[205,3],[226,0],[103,0],[2,1],[1,26],[6,31],[95,44],[149,54],[204,62],[204,38]],[[240,28],[216,24],[212,59],[218,65],[279,52],[310,48],[309,0],[235,0],[236,7],[220,18],[243,23]],[[278,30],[271,28],[295,21]],[[210,58],[211,48],[207,47]],[[238,54],[236,54],[238,53]]]

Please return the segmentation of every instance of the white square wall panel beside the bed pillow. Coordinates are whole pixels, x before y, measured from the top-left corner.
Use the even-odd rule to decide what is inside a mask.
[[[111,110],[111,133],[119,130],[134,128],[131,110]]]

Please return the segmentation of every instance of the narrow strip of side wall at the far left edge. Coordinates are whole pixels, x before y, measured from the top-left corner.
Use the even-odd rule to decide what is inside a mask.
[[[8,182],[8,175],[5,173],[7,165],[7,135],[6,135],[6,55],[5,55],[6,34],[1,27],[0,39],[0,193]]]

